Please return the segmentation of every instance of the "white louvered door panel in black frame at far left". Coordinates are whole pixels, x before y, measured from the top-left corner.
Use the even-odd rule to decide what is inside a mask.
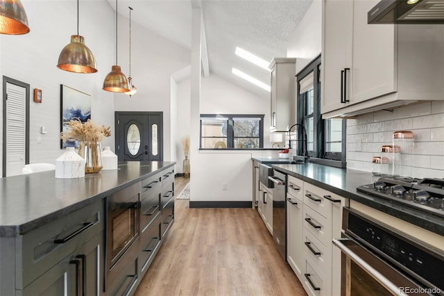
[[[26,162],[26,88],[6,83],[6,92],[6,176],[15,176]]]

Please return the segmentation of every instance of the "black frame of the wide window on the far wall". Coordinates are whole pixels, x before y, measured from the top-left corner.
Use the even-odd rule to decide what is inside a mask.
[[[202,150],[220,150],[220,148],[203,148],[202,139],[210,138],[202,136],[202,118],[228,118],[227,120],[227,147],[223,149],[230,150],[248,150],[248,149],[262,149],[264,148],[264,117],[263,114],[200,114],[200,136],[199,136],[199,149]],[[234,120],[233,118],[259,118],[259,137],[234,137]],[[234,147],[234,138],[259,138],[259,147],[256,148],[236,148]]]

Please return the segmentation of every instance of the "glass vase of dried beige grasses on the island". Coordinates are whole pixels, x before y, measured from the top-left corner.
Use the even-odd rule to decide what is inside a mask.
[[[78,140],[78,155],[85,159],[85,173],[99,172],[103,167],[101,140],[111,135],[110,126],[99,126],[91,120],[80,122],[76,118],[67,126],[69,130],[62,133],[62,140]]]

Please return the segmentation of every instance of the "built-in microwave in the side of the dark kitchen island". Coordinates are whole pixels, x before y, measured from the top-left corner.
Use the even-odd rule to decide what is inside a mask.
[[[139,236],[139,184],[110,195],[106,216],[108,270],[119,261]]]

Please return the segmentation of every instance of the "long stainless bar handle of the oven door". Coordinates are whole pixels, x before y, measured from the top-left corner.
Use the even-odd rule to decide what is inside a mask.
[[[345,241],[354,241],[350,238],[333,238],[333,244],[336,245],[336,247],[339,247],[341,251],[350,257],[352,261],[355,261],[357,265],[359,265],[363,270],[368,272],[378,283],[380,283],[384,288],[389,290],[393,295],[402,295],[406,296],[407,294],[400,291],[400,288],[396,286],[394,283],[389,281],[384,275],[379,273],[375,268],[371,267],[366,261],[364,261],[361,257],[359,257],[355,252],[353,252],[351,249],[349,249],[347,246],[345,246],[342,242]]]

